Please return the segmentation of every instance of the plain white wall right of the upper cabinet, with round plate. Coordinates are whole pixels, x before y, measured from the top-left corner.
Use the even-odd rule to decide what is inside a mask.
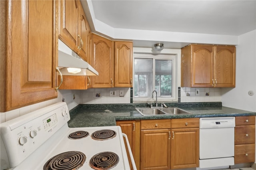
[[[256,112],[256,30],[238,37],[236,46],[236,87],[222,88],[222,105]]]

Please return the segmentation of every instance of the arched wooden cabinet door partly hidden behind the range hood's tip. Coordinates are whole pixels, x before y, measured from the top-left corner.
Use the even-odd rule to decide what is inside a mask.
[[[91,77],[92,88],[114,87],[114,43],[92,34],[92,67],[99,73]]]

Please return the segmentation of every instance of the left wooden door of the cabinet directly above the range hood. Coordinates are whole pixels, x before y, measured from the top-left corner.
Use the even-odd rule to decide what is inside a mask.
[[[59,38],[78,53],[78,4],[76,0],[60,0]]]

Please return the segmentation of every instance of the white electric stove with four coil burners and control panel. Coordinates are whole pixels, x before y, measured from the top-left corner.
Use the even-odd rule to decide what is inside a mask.
[[[60,102],[2,123],[1,170],[130,170],[119,126],[69,128],[69,120]]]

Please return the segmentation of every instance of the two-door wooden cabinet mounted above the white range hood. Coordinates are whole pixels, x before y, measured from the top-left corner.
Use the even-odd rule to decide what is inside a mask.
[[[88,32],[86,16],[80,0],[60,0],[59,38],[82,59],[87,61]]]

